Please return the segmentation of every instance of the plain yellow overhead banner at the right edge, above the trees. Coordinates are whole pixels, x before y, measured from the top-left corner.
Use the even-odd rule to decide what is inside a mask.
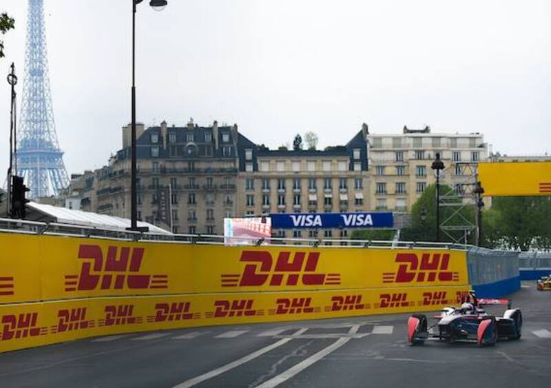
[[[551,195],[551,161],[479,163],[485,196]]]

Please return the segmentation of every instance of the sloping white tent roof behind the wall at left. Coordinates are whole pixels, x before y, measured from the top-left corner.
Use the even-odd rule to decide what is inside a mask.
[[[104,227],[109,229],[118,229],[121,230],[121,232],[124,232],[127,227],[130,227],[130,220],[128,218],[83,212],[82,210],[72,210],[67,209],[66,207],[56,207],[35,202],[29,202],[27,203],[27,206],[31,209],[46,214],[47,216],[55,218],[55,222],[57,223],[92,226],[98,228]],[[138,221],[138,227],[149,227],[149,233],[171,234],[165,229],[161,229],[160,227],[142,221]]]

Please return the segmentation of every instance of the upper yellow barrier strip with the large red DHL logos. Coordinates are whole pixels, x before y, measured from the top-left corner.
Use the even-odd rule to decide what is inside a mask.
[[[0,234],[0,303],[99,296],[468,285],[466,253],[225,247]]]

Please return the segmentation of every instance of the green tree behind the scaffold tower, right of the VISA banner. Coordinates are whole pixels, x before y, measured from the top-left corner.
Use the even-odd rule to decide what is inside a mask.
[[[447,185],[440,185],[440,196],[444,196],[453,192],[453,188]],[[448,198],[447,203],[453,203]],[[457,202],[461,202],[461,198],[457,198]],[[423,219],[422,210],[424,210],[426,216]],[[446,225],[466,225],[466,221],[475,223],[475,207],[463,207],[459,211],[459,207],[455,206],[441,206],[440,207],[440,224],[443,223],[450,216],[451,218]],[[457,212],[457,213],[455,213]],[[455,214],[455,215],[454,215]],[[463,231],[448,232],[456,240],[459,240],[464,234]],[[421,197],[413,204],[411,208],[411,225],[410,227],[402,229],[400,235],[402,241],[436,241],[436,185],[428,185],[425,192]],[[468,243],[475,242],[475,233],[471,233],[468,238]],[[450,236],[446,235],[440,230],[440,241],[453,242]]]

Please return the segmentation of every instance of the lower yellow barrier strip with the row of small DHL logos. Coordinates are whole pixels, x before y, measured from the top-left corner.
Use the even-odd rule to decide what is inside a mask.
[[[468,286],[122,296],[0,305],[0,352],[91,336],[438,309]],[[405,324],[405,323],[404,323]]]

